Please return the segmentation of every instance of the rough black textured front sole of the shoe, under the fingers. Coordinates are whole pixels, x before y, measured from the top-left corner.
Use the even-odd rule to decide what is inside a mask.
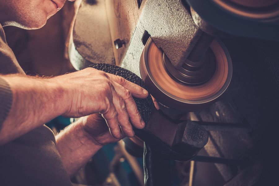
[[[89,67],[92,67],[97,70],[102,70],[106,73],[111,73],[114,75],[121,76],[121,77],[125,78],[126,80],[133,82],[148,91],[147,87],[144,84],[144,81],[139,76],[137,76],[135,73],[132,73],[131,71],[129,71],[127,69],[123,69],[121,67],[118,67],[118,66],[115,66],[112,64],[105,64],[105,63],[92,64]],[[137,107],[138,107],[138,110],[139,110],[139,113],[140,113],[142,119],[144,120],[145,123],[147,123],[150,118],[151,111],[154,109],[153,100],[152,100],[150,94],[148,95],[148,97],[146,99],[134,98],[134,100],[135,100],[135,103],[137,104]]]

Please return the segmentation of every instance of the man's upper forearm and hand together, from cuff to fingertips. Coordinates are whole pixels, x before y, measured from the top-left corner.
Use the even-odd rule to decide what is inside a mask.
[[[122,137],[121,131],[133,136],[132,125],[144,128],[133,96],[146,98],[148,92],[122,77],[93,68],[55,78],[0,76],[13,93],[10,113],[0,130],[0,145],[60,115],[82,117],[101,113],[117,139]]]

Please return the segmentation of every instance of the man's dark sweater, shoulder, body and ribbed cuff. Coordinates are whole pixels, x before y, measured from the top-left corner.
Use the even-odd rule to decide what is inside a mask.
[[[11,73],[24,74],[24,71],[8,47],[0,24],[0,74]],[[10,87],[0,78],[0,130],[11,103]],[[40,126],[0,146],[0,185],[72,185],[56,148],[54,134],[47,126]]]

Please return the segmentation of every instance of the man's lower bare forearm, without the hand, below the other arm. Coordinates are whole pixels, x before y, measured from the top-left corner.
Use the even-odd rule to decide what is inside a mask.
[[[82,122],[82,119],[78,120],[55,137],[56,147],[70,177],[102,147],[84,131]]]

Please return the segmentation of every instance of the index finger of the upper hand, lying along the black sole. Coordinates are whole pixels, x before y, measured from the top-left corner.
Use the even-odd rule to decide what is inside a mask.
[[[120,84],[121,86],[124,86],[129,91],[131,91],[131,93],[134,97],[144,99],[148,96],[148,92],[141,86],[138,86],[135,83],[132,83],[120,76],[116,76],[116,75],[113,75],[110,73],[107,73],[107,75],[111,81],[114,81],[114,82]]]

